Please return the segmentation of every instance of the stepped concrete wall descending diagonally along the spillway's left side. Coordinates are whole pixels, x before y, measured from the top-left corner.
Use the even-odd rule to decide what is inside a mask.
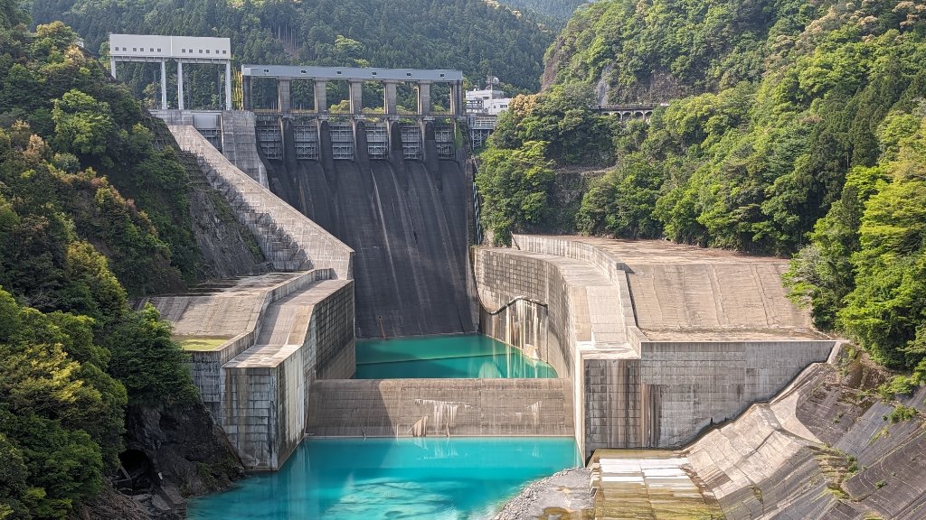
[[[194,127],[168,129],[182,150],[197,156],[209,183],[229,200],[275,269],[329,267],[339,279],[353,278],[351,248],[232,165]]]

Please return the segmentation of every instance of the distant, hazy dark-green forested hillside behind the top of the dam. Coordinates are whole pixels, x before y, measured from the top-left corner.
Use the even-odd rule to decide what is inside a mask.
[[[482,0],[33,0],[94,51],[110,32],[221,36],[241,63],[458,68],[536,90],[553,34],[530,14]],[[146,79],[150,81],[150,77]],[[139,80],[136,80],[139,81]]]

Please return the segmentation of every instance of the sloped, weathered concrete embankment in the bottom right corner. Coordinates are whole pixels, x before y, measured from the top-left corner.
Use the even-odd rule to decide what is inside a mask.
[[[684,450],[728,520],[926,518],[926,388],[883,402],[882,369],[863,361],[808,368]],[[900,406],[916,410],[892,420]]]

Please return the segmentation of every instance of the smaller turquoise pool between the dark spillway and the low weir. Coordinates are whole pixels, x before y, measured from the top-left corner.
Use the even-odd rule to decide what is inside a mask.
[[[556,377],[543,361],[477,334],[357,341],[357,379]]]

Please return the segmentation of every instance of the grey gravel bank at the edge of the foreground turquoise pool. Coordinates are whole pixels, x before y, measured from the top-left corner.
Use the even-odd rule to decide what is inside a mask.
[[[583,520],[594,517],[592,472],[573,467],[533,482],[495,520]]]

